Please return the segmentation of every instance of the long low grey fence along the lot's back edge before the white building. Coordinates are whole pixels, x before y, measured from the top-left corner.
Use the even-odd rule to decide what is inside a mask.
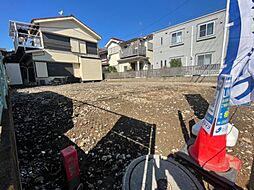
[[[105,73],[105,79],[160,78],[175,76],[216,76],[219,74],[219,71],[220,64],[212,64],[142,71],[127,71],[119,73]]]

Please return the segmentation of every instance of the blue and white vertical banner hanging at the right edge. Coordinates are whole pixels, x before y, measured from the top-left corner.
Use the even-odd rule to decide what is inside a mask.
[[[254,1],[230,0],[229,39],[221,74],[232,76],[231,105],[254,101]]]

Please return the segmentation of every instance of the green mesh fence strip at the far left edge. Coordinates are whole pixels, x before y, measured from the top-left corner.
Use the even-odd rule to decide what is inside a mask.
[[[7,109],[6,96],[8,95],[8,82],[3,57],[0,56],[0,123],[2,121],[3,110]]]

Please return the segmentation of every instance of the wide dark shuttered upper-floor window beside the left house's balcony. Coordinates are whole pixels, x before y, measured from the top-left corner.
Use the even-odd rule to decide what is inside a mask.
[[[43,33],[43,42],[46,49],[71,51],[70,38],[55,34]]]

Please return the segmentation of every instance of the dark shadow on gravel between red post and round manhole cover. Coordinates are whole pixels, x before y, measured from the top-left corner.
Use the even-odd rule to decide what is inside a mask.
[[[121,116],[115,126],[88,153],[81,168],[91,189],[121,189],[127,166],[141,155],[153,154],[154,125]]]

